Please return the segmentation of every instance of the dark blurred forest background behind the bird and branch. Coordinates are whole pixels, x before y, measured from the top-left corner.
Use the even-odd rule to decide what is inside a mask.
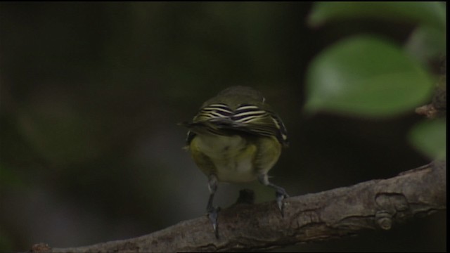
[[[291,196],[386,179],[429,162],[406,141],[422,117],[307,116],[304,77],[349,34],[401,44],[413,26],[361,18],[307,25],[311,3],[0,4],[0,252],[76,247],[205,215],[207,179],[184,146],[202,103],[252,86],[278,112],[290,147],[269,172]],[[274,200],[259,183],[219,184]],[[285,248],[445,251],[446,214],[391,231]]]

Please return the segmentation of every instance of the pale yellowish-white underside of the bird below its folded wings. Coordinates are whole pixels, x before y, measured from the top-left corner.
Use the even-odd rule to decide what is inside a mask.
[[[240,183],[257,179],[253,167],[256,146],[236,136],[196,136],[200,152],[214,163],[217,179],[221,182]]]

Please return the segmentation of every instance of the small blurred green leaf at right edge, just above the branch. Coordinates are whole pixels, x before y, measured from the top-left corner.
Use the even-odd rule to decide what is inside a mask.
[[[416,124],[409,133],[409,141],[431,159],[445,159],[446,120],[434,119]]]

